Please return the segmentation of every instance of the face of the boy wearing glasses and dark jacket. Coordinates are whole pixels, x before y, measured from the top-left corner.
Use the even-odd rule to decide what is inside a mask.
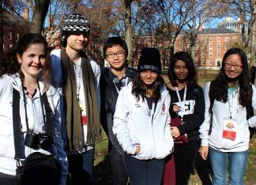
[[[106,59],[111,68],[120,70],[126,64],[126,52],[122,46],[108,47],[106,50]]]

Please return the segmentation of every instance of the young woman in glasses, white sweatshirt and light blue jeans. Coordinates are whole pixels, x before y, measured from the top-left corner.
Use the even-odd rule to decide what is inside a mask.
[[[243,184],[250,132],[255,117],[247,109],[256,108],[255,87],[250,84],[247,55],[239,48],[224,54],[216,79],[205,84],[205,121],[200,128],[199,154],[209,154],[213,167],[213,185]]]

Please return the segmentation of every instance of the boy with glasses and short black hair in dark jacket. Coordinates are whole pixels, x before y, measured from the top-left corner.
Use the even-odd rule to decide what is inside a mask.
[[[113,116],[115,103],[122,87],[126,86],[136,74],[128,68],[126,58],[128,48],[120,37],[111,37],[104,43],[104,58],[110,67],[105,67],[100,76],[101,111],[100,121],[109,138],[109,156],[111,159],[114,185],[126,185],[128,176],[122,161],[122,147],[113,134]]]

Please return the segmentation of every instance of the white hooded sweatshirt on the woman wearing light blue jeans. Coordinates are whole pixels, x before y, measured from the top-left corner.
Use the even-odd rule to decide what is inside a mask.
[[[209,87],[210,82],[205,83],[205,121],[200,127],[200,139],[201,146],[211,146],[215,150],[221,152],[241,152],[248,150],[249,148],[249,126],[255,127],[256,116],[250,117],[247,120],[247,109],[242,105],[239,105],[239,88],[237,88],[232,94],[228,93],[228,98],[232,105],[228,102],[213,102],[213,125],[212,132],[209,135],[209,127],[211,116],[209,114]],[[256,89],[253,87],[252,94],[252,106],[256,109]],[[235,140],[224,139],[222,132],[224,128],[224,118],[229,117],[229,109],[232,112],[232,120],[237,122]]]

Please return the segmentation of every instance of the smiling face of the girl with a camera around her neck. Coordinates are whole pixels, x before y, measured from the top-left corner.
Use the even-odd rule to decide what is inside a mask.
[[[31,44],[22,55],[17,54],[17,60],[21,64],[21,71],[25,78],[32,77],[37,79],[47,61],[43,44]]]

